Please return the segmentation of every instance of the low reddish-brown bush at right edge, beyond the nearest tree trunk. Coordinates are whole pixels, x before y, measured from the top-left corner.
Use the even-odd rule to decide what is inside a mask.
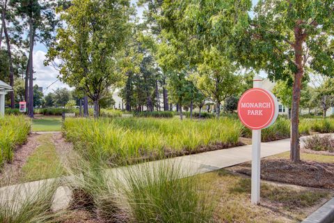
[[[312,151],[328,151],[334,152],[334,138],[330,135],[319,136],[315,135],[303,140],[304,148]]]

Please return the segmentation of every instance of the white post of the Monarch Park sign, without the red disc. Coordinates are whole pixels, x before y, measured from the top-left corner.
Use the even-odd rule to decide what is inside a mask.
[[[262,78],[255,76],[254,88],[262,88]],[[260,203],[260,174],[261,174],[261,130],[252,130],[252,185],[251,202]]]

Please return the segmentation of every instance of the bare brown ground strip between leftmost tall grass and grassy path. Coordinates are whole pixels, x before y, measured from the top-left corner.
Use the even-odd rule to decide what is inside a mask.
[[[21,178],[21,169],[26,164],[26,160],[33,153],[40,143],[37,133],[31,133],[26,141],[26,144],[19,146],[15,150],[14,159],[10,163],[6,163],[0,172],[0,187],[5,185],[13,185],[19,183]]]

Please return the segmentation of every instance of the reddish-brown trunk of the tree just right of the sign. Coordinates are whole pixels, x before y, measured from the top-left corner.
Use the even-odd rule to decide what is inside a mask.
[[[301,100],[301,80],[303,79],[303,31],[301,27],[294,29],[295,44],[294,54],[297,70],[294,74],[294,85],[292,91],[292,111],[291,111],[291,140],[290,140],[290,159],[296,163],[301,160],[299,147],[299,104]]]

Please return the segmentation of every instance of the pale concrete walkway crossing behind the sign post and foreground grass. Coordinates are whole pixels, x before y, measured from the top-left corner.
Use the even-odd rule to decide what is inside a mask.
[[[303,140],[301,140],[303,144]],[[261,157],[267,157],[270,155],[276,155],[279,153],[284,153],[289,151],[289,139],[283,139],[278,141],[271,141],[267,143],[262,143],[261,145]],[[238,146],[234,148],[227,148],[219,151],[210,151],[206,153],[198,153],[195,155],[186,155],[183,157],[175,157],[168,159],[168,161],[176,163],[182,169],[186,169],[186,176],[193,176],[196,174],[203,174],[209,171],[215,171],[217,169],[222,169],[225,167],[230,167],[242,162],[248,162],[251,160],[252,146]],[[166,160],[158,160],[149,162],[147,164],[150,167],[157,166],[161,162],[166,162]],[[142,164],[138,164],[142,165]],[[136,166],[130,166],[128,168],[136,168]],[[121,171],[119,171],[121,170]],[[122,178],[121,172],[124,170],[124,167],[117,169],[109,169],[106,171],[106,174],[113,173],[118,174]],[[184,177],[186,177],[184,176]],[[71,176],[66,177],[67,180],[72,178]],[[31,194],[43,190],[45,186],[51,185],[54,182],[54,179],[40,180],[31,183],[24,183],[22,185],[13,185],[8,187],[0,188],[0,205],[7,203],[7,201],[13,201],[15,198],[20,197],[31,197]],[[54,199],[54,209],[61,210],[66,208],[72,192],[70,192],[68,187],[59,187]],[[10,203],[10,202],[9,202]],[[16,205],[19,206],[18,202]]]

